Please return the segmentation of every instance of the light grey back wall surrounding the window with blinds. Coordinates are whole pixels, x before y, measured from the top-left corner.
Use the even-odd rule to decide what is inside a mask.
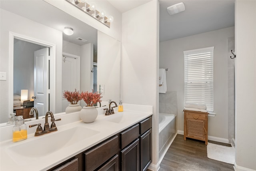
[[[228,38],[234,27],[160,42],[160,68],[169,68],[167,91],[177,91],[178,130],[184,130],[184,50],[214,46],[214,112],[208,135],[228,139]],[[231,60],[231,59],[230,59]]]

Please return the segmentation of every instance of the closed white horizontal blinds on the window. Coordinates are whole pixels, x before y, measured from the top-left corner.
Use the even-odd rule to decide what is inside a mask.
[[[214,47],[184,51],[185,102],[206,103],[213,111]]]

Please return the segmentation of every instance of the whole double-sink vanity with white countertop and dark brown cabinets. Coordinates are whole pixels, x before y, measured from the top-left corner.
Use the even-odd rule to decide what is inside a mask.
[[[152,106],[124,104],[124,111],[98,117],[92,123],[80,120],[79,112],[54,115],[58,131],[12,142],[12,127],[0,127],[0,170],[146,170],[152,160]],[[44,124],[44,119],[26,125]]]

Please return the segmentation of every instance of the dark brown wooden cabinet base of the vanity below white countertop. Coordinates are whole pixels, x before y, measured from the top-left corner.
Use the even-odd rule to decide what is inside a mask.
[[[48,171],[146,171],[152,161],[148,117]]]

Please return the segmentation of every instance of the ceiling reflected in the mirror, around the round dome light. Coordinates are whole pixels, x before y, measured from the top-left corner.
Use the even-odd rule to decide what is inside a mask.
[[[94,49],[97,49],[97,30],[95,28],[44,1],[0,0],[0,7],[61,32],[64,27],[71,27],[74,29],[74,34],[67,36],[62,33],[63,40],[80,46],[90,42],[94,44]],[[87,42],[81,42],[76,38],[83,38]]]

